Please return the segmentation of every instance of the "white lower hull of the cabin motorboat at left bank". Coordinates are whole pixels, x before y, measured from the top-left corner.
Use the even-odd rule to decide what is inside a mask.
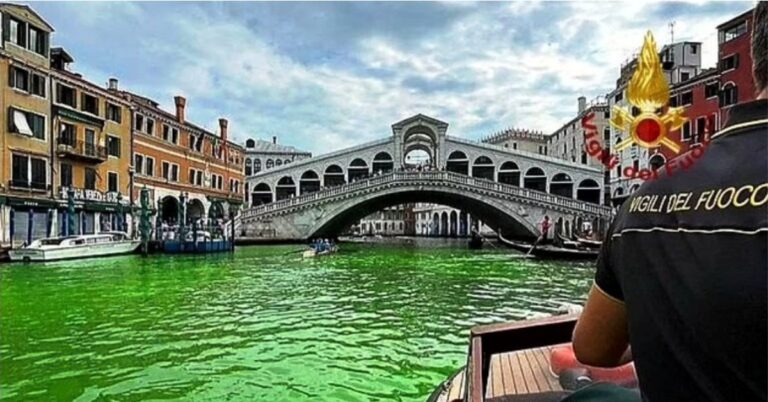
[[[76,258],[105,257],[130,254],[141,245],[139,240],[103,244],[83,244],[63,248],[21,248],[8,252],[11,261],[58,261]]]

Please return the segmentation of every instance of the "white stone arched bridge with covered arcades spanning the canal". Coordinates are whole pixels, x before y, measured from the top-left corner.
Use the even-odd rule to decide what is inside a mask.
[[[449,205],[505,234],[535,236],[553,222],[603,222],[603,173],[578,163],[446,135],[448,124],[416,115],[377,141],[262,171],[248,178],[250,208],[237,223],[246,238],[334,236],[387,206]],[[421,151],[428,165],[409,166]]]

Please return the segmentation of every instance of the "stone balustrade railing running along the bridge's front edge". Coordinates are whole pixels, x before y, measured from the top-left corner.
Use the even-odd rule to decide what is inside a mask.
[[[574,200],[571,198],[561,197],[538,190],[532,190],[527,188],[521,188],[510,184],[499,183],[491,180],[481,179],[477,177],[466,176],[460,173],[449,171],[422,171],[422,172],[393,172],[385,175],[362,179],[353,183],[346,183],[340,186],[320,190],[311,194],[300,195],[292,197],[287,200],[281,200],[272,202],[269,204],[253,207],[245,211],[242,215],[243,219],[248,219],[257,215],[265,214],[268,212],[286,209],[297,205],[306,204],[321,199],[332,198],[334,196],[362,190],[372,186],[379,186],[388,183],[403,183],[413,182],[419,180],[429,181],[441,181],[441,182],[453,182],[465,184],[471,187],[490,190],[504,195],[513,195],[517,197],[532,199],[552,205],[564,206],[571,209],[580,210],[587,213],[597,215],[607,215],[610,212],[610,208],[588,204],[583,201]]]

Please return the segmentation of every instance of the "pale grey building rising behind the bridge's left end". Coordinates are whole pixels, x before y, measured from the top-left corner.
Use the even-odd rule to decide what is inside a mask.
[[[272,141],[249,138],[245,141],[245,163],[243,173],[245,177],[251,177],[259,172],[287,165],[302,159],[311,158],[312,153],[302,151],[292,146],[277,143],[277,136],[272,136]],[[315,180],[316,179],[316,180]],[[309,182],[317,182],[320,188],[320,179],[306,178]],[[245,203],[251,205],[251,189],[245,183]],[[315,190],[316,191],[316,190]]]

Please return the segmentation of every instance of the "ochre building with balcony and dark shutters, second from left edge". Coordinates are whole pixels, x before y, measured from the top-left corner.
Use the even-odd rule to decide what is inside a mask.
[[[73,62],[64,49],[51,49],[54,232],[130,232],[131,105],[72,71]],[[67,218],[70,196],[74,219]]]

